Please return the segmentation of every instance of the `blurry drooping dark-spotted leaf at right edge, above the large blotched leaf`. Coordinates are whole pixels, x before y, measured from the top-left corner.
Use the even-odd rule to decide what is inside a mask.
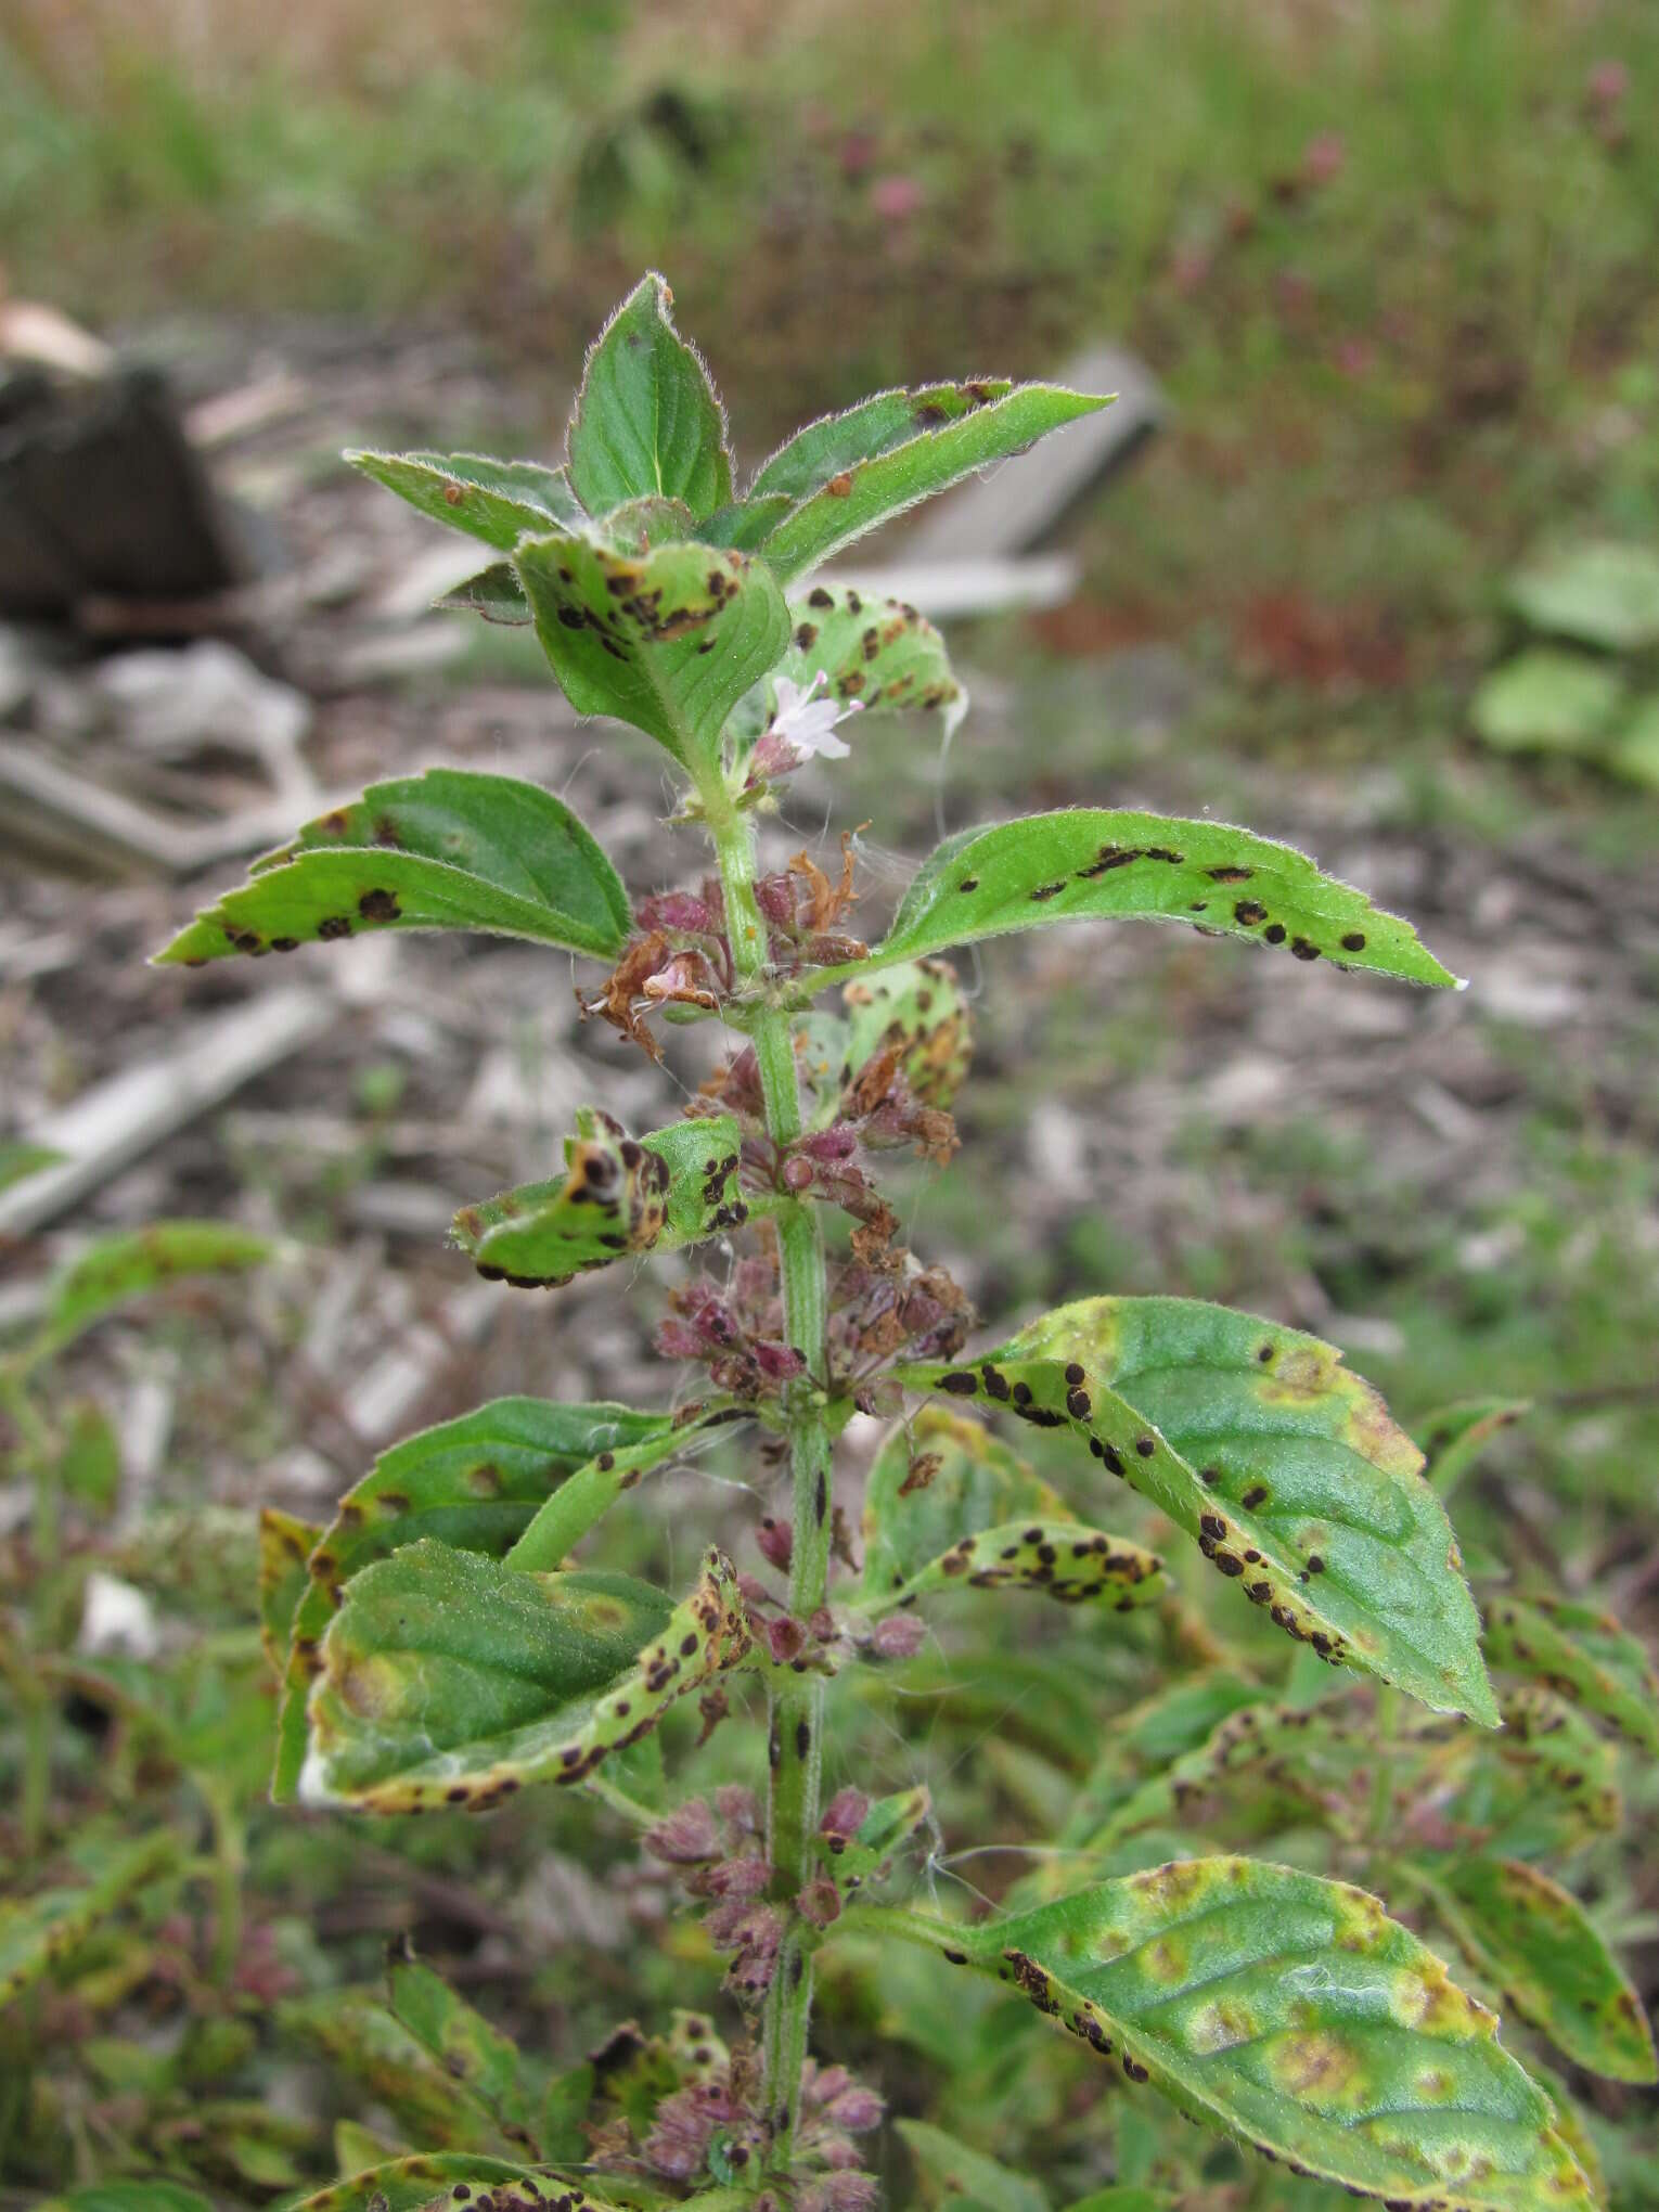
[[[1659,2081],[1652,2031],[1579,1900],[1520,1858],[1413,1863],[1469,1964],[1555,2048],[1610,2081]]]

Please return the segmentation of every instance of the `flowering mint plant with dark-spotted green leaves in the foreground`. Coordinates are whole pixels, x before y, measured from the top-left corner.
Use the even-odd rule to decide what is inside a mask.
[[[1358,1878],[1438,1920],[1568,2059],[1655,2077],[1628,1980],[1537,1865],[1617,1818],[1593,1717],[1655,1747],[1639,1648],[1548,1595],[1502,1597],[1489,1655],[1517,1681],[1500,1699],[1442,1495],[1336,1349],[1192,1298],[1099,1296],[969,1354],[967,1296],[898,1241],[883,1190],[885,1155],[956,1146],[953,947],[1139,918],[1427,989],[1453,978],[1358,889],[1212,821],[1073,807],[960,832],[874,945],[852,927],[852,841],[841,874],[807,854],[757,863],[757,818],[805,759],[878,745],[887,714],[964,706],[914,608],[814,580],[821,564],[1099,405],[1000,380],[885,392],[799,431],[739,493],[708,372],[646,276],[588,354],[564,465],[349,456],[480,542],[451,604],[533,624],[582,714],[668,754],[675,825],[708,841],[712,869],[633,900],[560,799],[434,768],[305,825],[161,958],[482,929],[595,962],[588,1011],[646,1053],[655,1022],[719,1022],[726,1057],[677,1121],[628,1133],[584,1110],[562,1170],[465,1208],[453,1234],[507,1292],[644,1254],[723,1259],[677,1281],[657,1336],[701,1369],[690,1396],[498,1400],[396,1444],[325,1528],[265,1515],[274,1796],[487,1812],[577,1785],[677,1871],[730,1960],[732,2013],[630,2028],[551,2075],[403,1962],[383,1997],[323,2006],[310,2033],[414,2152],[319,2205],[876,2205],[858,2137],[880,2099],[812,2055],[821,1955],[872,1938],[933,1953],[947,2013],[951,1975],[1002,1984],[1117,2088],[1292,2174],[1422,2212],[1593,2205],[1571,2101]],[[907,1420],[916,1396],[933,1402]],[[834,1484],[856,1411],[896,1422],[860,1544]],[[1482,1418],[1449,1416],[1447,1484]],[[664,1590],[597,1564],[624,1495],[737,1422],[787,1460],[785,1502],[754,1528],[768,1573],[710,1548],[690,1588]],[[1004,1422],[1073,1449],[1068,1493]],[[1212,1606],[1113,1531],[1124,1491],[1214,1568]],[[843,1692],[891,1694],[925,1663],[929,1606],[1009,1584],[1075,1606],[1091,1644],[1159,1624],[1172,1679],[1088,1717],[1071,1814],[1002,1909],[896,1902],[927,1792],[825,1803],[825,1734],[847,1725]],[[1287,1668],[1263,1657],[1263,1626]],[[763,1703],[763,1805],[734,1783],[675,1790],[646,1756],[688,1699],[706,1732]],[[1283,1838],[1290,1863],[1194,1849],[1228,1820]],[[938,2130],[909,2139],[958,2203],[1033,2201],[980,2154],[951,2166]]]

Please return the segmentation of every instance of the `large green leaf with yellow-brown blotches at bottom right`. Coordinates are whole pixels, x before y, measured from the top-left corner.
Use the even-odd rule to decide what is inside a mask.
[[[1493,2015],[1347,1882],[1177,1860],[938,1944],[1296,2174],[1407,2212],[1590,2212]]]

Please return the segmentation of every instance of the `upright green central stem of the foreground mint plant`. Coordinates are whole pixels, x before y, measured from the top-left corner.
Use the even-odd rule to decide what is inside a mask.
[[[726,891],[732,967],[739,984],[752,989],[765,982],[765,927],[754,902],[754,832],[748,816],[730,805],[723,790],[706,794],[703,810]],[[774,1144],[792,1144],[801,1135],[794,1022],[783,1009],[761,1006],[752,1015],[748,1033],[761,1071],[768,1135]],[[823,1604],[830,1579],[830,1460],[834,1440],[825,1400],[823,1228],[816,1208],[790,1201],[774,1214],[774,1230],[785,1340],[807,1363],[807,1374],[790,1385],[785,1402],[794,1491],[790,1613],[805,1621]],[[774,2128],[774,2157],[783,2168],[790,2161],[801,2108],[801,2070],[812,2020],[814,1931],[794,1909],[794,1900],[812,1876],[810,1851],[818,1827],[823,1679],[796,1674],[776,1681],[770,1690],[768,1723],[772,1778],[768,1856],[774,1896],[785,1913],[785,1933],[765,2000],[761,2057],[765,2108]]]

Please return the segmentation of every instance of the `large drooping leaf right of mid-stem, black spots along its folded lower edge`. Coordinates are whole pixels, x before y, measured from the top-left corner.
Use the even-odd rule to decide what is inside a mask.
[[[1422,1453],[1332,1345],[1199,1298],[1084,1298],[896,1374],[1071,1427],[1321,1659],[1498,1723]]]

